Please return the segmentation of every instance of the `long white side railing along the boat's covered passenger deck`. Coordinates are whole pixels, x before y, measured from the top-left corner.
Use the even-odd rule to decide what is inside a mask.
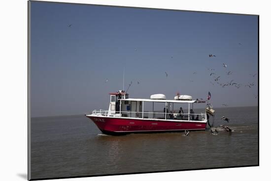
[[[165,112],[133,112],[121,111],[121,117],[143,118],[143,119],[163,119],[163,120],[186,120],[186,121],[204,121],[205,113],[165,113]]]

